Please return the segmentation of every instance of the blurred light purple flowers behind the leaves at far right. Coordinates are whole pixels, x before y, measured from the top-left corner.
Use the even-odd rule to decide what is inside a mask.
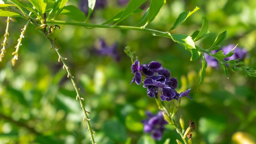
[[[224,46],[222,48],[223,50],[223,53],[226,55],[228,52],[230,52],[233,48],[235,47],[235,45],[233,44],[230,44],[228,46]],[[221,49],[220,49],[221,50]],[[212,51],[212,53],[216,53],[217,51],[219,50],[215,50],[215,51]],[[235,59],[244,59],[247,51],[246,49],[240,49],[240,48],[235,48],[235,50],[233,51],[234,54],[233,56],[230,56],[230,57],[227,57],[225,58],[224,60],[228,61],[228,60],[235,60]],[[219,66],[219,63],[218,63],[218,60],[216,60],[214,57],[212,56],[209,56],[208,54],[205,53],[205,60],[207,62],[207,64],[210,66],[210,67],[218,67]]]

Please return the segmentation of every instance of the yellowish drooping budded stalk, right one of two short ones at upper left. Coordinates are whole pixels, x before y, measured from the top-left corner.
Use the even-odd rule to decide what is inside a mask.
[[[30,16],[32,14],[32,12],[30,12],[28,14],[28,16]],[[19,58],[19,49],[20,49],[20,46],[21,46],[21,41],[22,39],[24,38],[24,35],[25,35],[25,32],[26,32],[26,29],[28,27],[28,24],[30,23],[31,19],[28,19],[28,22],[26,23],[26,25],[24,26],[24,28],[21,29],[21,35],[18,39],[18,44],[15,46],[16,50],[12,53],[13,58],[12,58],[12,66],[14,66],[16,64],[16,60],[18,60]]]

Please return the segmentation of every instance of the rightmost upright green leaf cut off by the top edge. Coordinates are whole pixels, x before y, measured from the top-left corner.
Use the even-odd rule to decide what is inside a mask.
[[[153,21],[158,12],[160,11],[161,7],[165,4],[166,0],[151,0],[149,6],[149,17],[147,23]]]

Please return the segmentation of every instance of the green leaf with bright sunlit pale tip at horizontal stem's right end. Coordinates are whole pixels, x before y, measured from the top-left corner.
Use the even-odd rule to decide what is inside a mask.
[[[170,34],[169,34],[170,35]],[[191,36],[184,34],[172,34],[170,35],[174,42],[177,42],[184,46],[186,49],[196,49],[195,43]]]

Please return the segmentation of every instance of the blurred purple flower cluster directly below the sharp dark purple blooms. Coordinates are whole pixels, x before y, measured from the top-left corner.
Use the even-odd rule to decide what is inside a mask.
[[[142,121],[144,124],[144,132],[151,133],[154,139],[161,140],[163,131],[165,130],[164,125],[167,124],[163,118],[162,111],[159,111],[156,115],[153,115],[149,111],[147,111],[146,114],[148,118]]]

